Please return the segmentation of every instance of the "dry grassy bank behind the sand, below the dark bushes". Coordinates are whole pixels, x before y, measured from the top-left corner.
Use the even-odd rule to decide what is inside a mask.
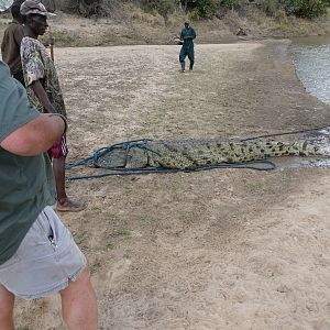
[[[52,7],[52,2],[48,4]],[[55,12],[57,16],[50,20],[50,24],[56,47],[175,44],[184,20],[189,18],[183,10],[162,15],[131,1],[110,7],[107,16]],[[0,18],[0,38],[10,21],[10,13]],[[196,42],[200,44],[330,34],[329,15],[302,19],[280,10],[267,15],[256,2],[249,1],[221,15],[191,19],[191,25],[198,33]]]

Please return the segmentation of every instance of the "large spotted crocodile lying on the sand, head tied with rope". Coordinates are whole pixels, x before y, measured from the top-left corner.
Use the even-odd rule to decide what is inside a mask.
[[[102,148],[94,158],[96,167],[194,169],[222,163],[246,163],[278,156],[323,156],[329,152],[302,140],[217,141],[217,140],[138,140]]]

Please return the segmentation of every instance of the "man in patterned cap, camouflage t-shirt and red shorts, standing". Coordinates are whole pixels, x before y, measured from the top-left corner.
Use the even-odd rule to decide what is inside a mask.
[[[25,18],[24,37],[21,42],[21,59],[28,96],[31,103],[41,112],[59,113],[66,118],[63,94],[55,65],[45,46],[37,40],[48,28],[47,18],[55,14],[46,11],[37,0],[26,0],[21,6]],[[66,136],[63,135],[48,151],[53,158],[56,180],[57,211],[80,211],[84,204],[73,201],[65,189],[65,160],[68,153]]]

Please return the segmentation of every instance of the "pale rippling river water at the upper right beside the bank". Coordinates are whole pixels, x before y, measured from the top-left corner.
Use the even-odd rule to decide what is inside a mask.
[[[330,105],[330,36],[295,38],[290,50],[306,90]]]

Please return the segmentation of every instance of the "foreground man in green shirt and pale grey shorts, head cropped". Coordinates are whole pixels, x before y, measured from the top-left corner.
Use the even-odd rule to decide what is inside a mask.
[[[59,293],[70,330],[97,329],[86,258],[50,207],[53,170],[45,152],[65,132],[61,114],[40,113],[0,62],[0,329],[12,330],[14,297]]]

